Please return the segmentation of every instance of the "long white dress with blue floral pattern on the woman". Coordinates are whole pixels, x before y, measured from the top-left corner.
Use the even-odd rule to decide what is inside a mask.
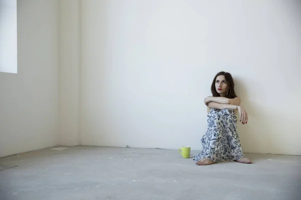
[[[208,128],[202,137],[203,150],[194,157],[199,161],[229,161],[245,157],[237,131],[237,116],[234,110],[212,108],[207,115]]]

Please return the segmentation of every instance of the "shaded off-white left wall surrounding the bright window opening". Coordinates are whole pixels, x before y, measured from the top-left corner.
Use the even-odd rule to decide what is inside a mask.
[[[0,157],[58,142],[58,1],[17,7],[18,74],[0,73]]]

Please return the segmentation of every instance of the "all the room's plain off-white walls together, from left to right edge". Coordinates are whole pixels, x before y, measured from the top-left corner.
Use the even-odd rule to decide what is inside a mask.
[[[245,152],[300,155],[299,10],[298,0],[18,0],[0,157],[56,144],[201,149],[220,70],[249,112]]]

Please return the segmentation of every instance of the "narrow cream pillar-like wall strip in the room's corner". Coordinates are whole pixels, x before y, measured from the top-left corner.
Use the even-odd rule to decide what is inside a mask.
[[[80,144],[80,0],[59,0],[59,144]]]

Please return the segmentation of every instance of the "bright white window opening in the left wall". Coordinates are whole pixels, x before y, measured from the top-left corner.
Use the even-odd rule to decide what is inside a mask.
[[[0,0],[0,72],[17,73],[17,0]]]

